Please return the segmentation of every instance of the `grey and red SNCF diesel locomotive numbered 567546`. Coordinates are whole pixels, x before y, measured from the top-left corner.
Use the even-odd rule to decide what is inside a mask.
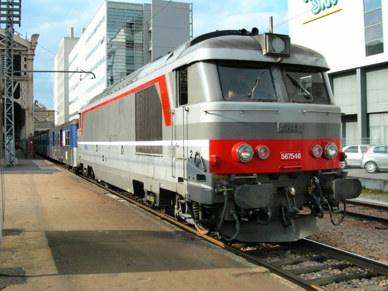
[[[328,70],[288,35],[198,36],[81,108],[72,167],[226,241],[307,237],[361,191]]]

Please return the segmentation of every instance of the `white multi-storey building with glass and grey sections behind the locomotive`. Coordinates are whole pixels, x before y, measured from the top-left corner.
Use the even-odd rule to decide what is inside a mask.
[[[69,119],[107,86],[190,39],[190,4],[106,0],[69,54]],[[80,80],[81,79],[81,80]]]

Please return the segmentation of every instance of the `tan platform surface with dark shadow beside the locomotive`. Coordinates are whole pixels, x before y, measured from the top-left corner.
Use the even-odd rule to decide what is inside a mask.
[[[301,290],[41,158],[4,183],[0,289]]]

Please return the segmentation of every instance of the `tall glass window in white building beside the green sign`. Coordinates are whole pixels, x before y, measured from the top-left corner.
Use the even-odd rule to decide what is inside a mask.
[[[381,0],[364,0],[366,55],[384,52]]]

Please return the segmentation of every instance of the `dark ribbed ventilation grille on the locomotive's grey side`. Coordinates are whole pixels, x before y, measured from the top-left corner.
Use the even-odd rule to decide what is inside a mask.
[[[155,85],[147,87],[135,95],[136,141],[150,142],[162,140],[162,103]],[[137,154],[162,155],[162,146],[136,146]]]

